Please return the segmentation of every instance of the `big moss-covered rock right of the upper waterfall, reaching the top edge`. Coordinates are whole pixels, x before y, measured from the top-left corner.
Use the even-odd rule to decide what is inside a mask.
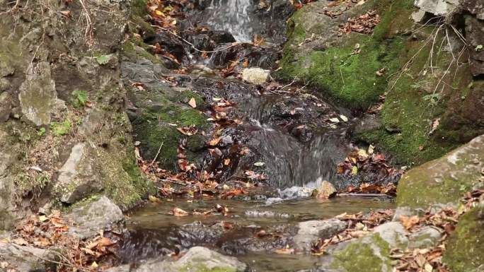
[[[406,40],[402,34],[412,25],[412,1],[367,1],[337,18],[321,15],[328,3],[306,5],[292,16],[279,75],[311,83],[342,105],[367,108],[386,90],[387,76],[376,72],[384,69],[389,75],[401,65],[399,55]],[[340,23],[370,10],[383,19],[374,35],[338,35]]]

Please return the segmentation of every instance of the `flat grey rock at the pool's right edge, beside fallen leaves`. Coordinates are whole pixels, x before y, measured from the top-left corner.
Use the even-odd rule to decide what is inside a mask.
[[[341,220],[311,220],[298,224],[299,230],[294,236],[294,247],[301,251],[309,251],[311,242],[318,238],[327,239],[346,229],[347,223]]]

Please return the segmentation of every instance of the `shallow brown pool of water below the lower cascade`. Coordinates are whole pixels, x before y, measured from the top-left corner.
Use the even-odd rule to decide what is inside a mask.
[[[229,213],[183,217],[169,213],[173,208],[207,210],[217,204],[229,208]],[[149,203],[130,215],[128,239],[120,256],[128,263],[203,246],[236,256],[252,271],[301,271],[314,268],[318,256],[274,252],[289,246],[299,222],[383,208],[393,208],[393,203],[365,197],[303,198],[273,204],[264,200],[222,199]]]

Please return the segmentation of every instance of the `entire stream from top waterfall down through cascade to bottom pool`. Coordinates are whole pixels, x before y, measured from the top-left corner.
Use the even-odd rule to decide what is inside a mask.
[[[284,29],[275,30],[275,27],[285,20],[276,20],[268,14],[273,14],[271,8],[275,10],[283,4],[272,1],[272,6],[263,11],[255,8],[258,4],[250,0],[200,1],[200,9],[189,16],[190,24],[204,22],[211,30],[230,32],[238,42],[250,42],[253,35],[261,33],[270,45],[253,48],[243,44],[239,51],[226,50],[195,64],[219,71],[224,67],[221,64],[229,62],[229,57],[234,59],[249,52],[246,56],[255,56],[250,59],[250,66],[265,66],[265,69],[277,66],[271,56],[279,49],[271,44],[282,43]],[[263,174],[269,177],[267,187],[230,200],[162,199],[132,211],[118,252],[121,263],[131,264],[203,246],[236,256],[252,271],[302,271],[314,268],[318,256],[275,253],[277,249],[292,247],[298,223],[325,220],[341,213],[393,208],[391,199],[386,198],[323,200],[311,197],[313,189],[323,180],[333,183],[337,189],[355,182],[336,172],[338,163],[354,148],[347,134],[357,118],[349,111],[310,92],[271,93],[234,77],[195,75],[194,71],[171,76],[178,78],[179,87],[195,90],[207,102],[213,102],[212,97],[235,101],[236,110],[230,114],[243,121],[240,126],[221,130],[226,146],[220,147],[219,158],[213,155],[203,158],[202,171],[220,173],[219,179],[228,182],[231,177],[252,169],[254,162],[264,162]],[[142,79],[132,78],[132,81]],[[349,120],[330,127],[328,118],[341,115]],[[253,154],[248,158],[234,157],[232,143],[248,146]],[[234,166],[219,169],[222,158],[230,158]],[[217,205],[229,212],[203,214],[202,211]],[[178,217],[170,213],[174,208],[201,212]]]

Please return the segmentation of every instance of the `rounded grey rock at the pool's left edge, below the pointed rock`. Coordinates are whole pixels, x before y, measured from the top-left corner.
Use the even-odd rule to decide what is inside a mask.
[[[73,208],[66,218],[74,222],[74,227],[69,228],[69,233],[81,239],[92,237],[100,230],[124,219],[120,207],[106,196],[77,205],[79,206]]]

